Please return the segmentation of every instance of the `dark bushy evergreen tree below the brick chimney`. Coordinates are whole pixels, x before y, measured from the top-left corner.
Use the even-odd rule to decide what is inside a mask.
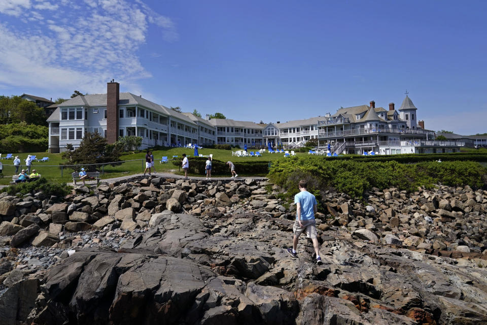
[[[61,154],[67,162],[63,165],[88,165],[113,163],[120,159],[120,145],[108,144],[107,139],[98,133],[87,133],[80,146],[74,151],[65,151]],[[111,164],[116,165],[116,164]],[[95,171],[98,166],[85,166],[89,171]],[[77,169],[77,168],[75,168]]]

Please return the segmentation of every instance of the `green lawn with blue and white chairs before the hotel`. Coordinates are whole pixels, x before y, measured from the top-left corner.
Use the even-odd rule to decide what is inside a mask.
[[[234,149],[235,151],[236,149]],[[250,150],[249,150],[250,151]],[[181,174],[179,168],[171,163],[172,156],[177,155],[179,157],[182,156],[183,153],[186,153],[188,157],[193,156],[192,149],[185,149],[185,148],[171,148],[168,150],[155,150],[154,158],[156,159],[156,171],[157,172],[165,172],[165,173],[175,173]],[[254,160],[263,160],[263,161],[273,161],[279,158],[283,158],[284,154],[282,153],[264,153],[262,157],[235,157],[232,156],[232,151],[230,150],[221,150],[221,149],[199,149],[199,154],[203,155],[210,155],[213,154],[213,158],[222,161],[254,161]],[[42,157],[49,157],[49,161],[45,163],[32,163],[32,169],[36,169],[42,176],[59,182],[71,182],[72,177],[71,173],[74,171],[73,169],[63,168],[62,170],[62,177],[61,177],[61,169],[58,167],[59,164],[63,161],[61,155],[59,153],[45,153],[45,152],[34,152],[30,153],[31,155],[37,155],[37,158]],[[298,155],[307,155],[307,153],[296,153]],[[2,154],[2,156],[6,156],[7,154]],[[26,153],[18,153],[13,154],[15,157],[16,155],[19,156],[21,161],[21,167],[25,167],[25,159],[27,158]],[[157,159],[162,158],[163,156],[167,156],[169,162],[167,164],[159,164]],[[121,156],[121,160],[135,160],[135,159],[144,159],[145,152],[139,153],[130,153]],[[12,180],[12,175],[15,172],[14,166],[7,166],[13,165],[13,159],[2,159],[0,160],[3,164],[3,175],[0,176],[0,185],[6,185]],[[136,161],[127,161],[119,166],[104,166],[103,167],[103,174],[101,178],[113,178],[125,175],[133,175],[139,174],[144,171],[145,168],[145,160],[136,160]],[[79,168],[76,169],[79,171]],[[20,172],[20,169],[19,169]],[[230,172],[229,172],[230,174]],[[201,176],[201,175],[193,175],[193,176]]]

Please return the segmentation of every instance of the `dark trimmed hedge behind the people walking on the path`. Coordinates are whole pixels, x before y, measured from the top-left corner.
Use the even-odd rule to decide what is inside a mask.
[[[172,160],[175,166],[182,165],[182,157]],[[205,173],[206,160],[205,157],[189,157],[189,170],[191,174],[203,175]],[[229,175],[230,168],[226,165],[226,161],[217,159],[212,160],[212,175]],[[267,161],[232,161],[235,165],[235,172],[239,175],[266,175],[269,172],[269,163]]]

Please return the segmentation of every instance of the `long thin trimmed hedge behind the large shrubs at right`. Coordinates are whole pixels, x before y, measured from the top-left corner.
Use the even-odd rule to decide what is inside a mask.
[[[358,154],[347,154],[336,157],[317,156],[322,159],[329,160],[350,160],[355,161],[397,161],[398,163],[420,163],[422,161],[435,161],[441,159],[442,161],[456,161],[456,160],[470,160],[485,162],[487,161],[487,154],[482,152],[454,152],[454,153],[407,153],[407,154],[390,154],[390,155],[374,155],[362,156]]]

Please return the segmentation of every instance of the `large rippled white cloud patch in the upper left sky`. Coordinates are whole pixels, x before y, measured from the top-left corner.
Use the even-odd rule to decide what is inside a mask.
[[[164,39],[178,37],[169,18],[140,1],[84,0],[82,6],[78,11],[66,0],[0,0],[0,13],[25,21],[15,27],[0,23],[0,87],[93,93],[115,78],[137,88],[137,80],[151,77],[137,56],[149,24]]]

